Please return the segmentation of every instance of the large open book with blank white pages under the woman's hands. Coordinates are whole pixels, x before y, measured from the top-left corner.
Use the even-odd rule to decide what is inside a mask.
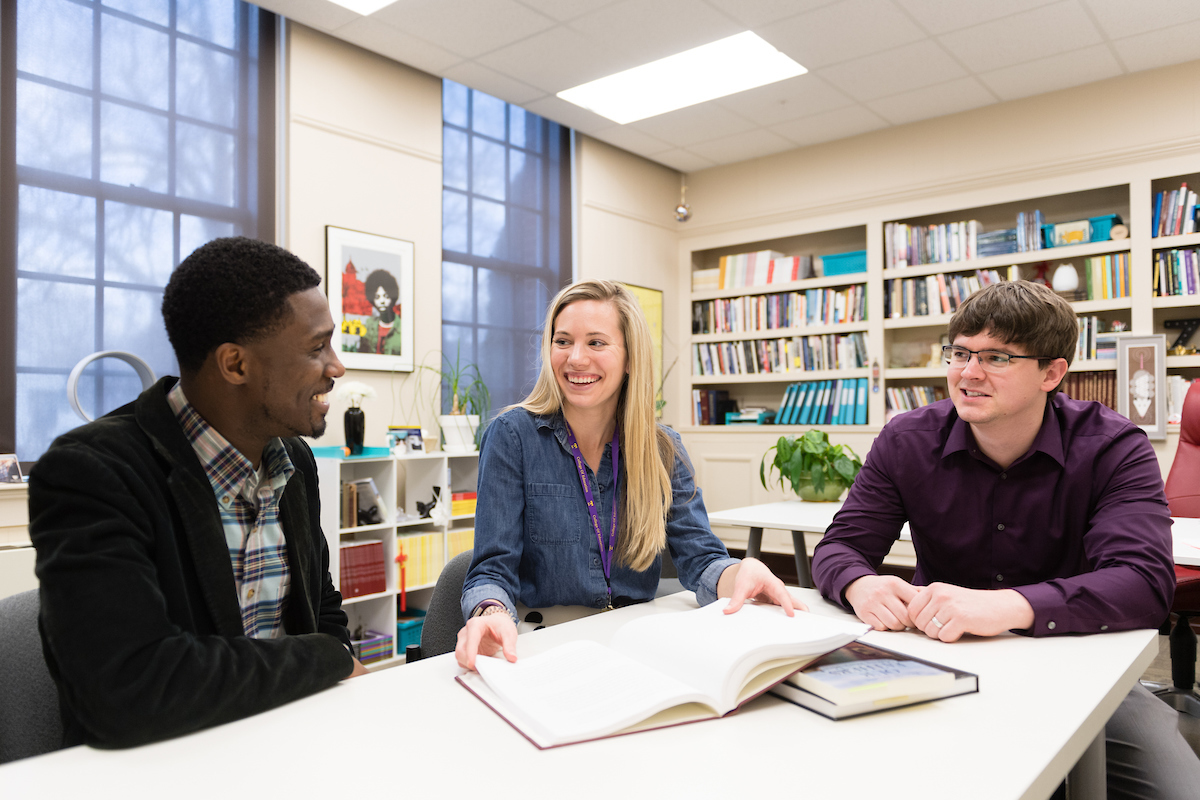
[[[623,625],[608,646],[559,645],[516,663],[480,657],[458,681],[538,747],[725,716],[869,626],[727,600]]]

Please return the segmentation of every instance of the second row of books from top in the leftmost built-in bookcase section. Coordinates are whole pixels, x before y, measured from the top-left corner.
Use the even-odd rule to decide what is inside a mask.
[[[806,289],[691,303],[692,333],[749,333],[866,319],[866,285]]]

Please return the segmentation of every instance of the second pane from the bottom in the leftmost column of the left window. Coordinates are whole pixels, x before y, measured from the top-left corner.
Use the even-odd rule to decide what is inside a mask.
[[[18,278],[17,317],[17,367],[71,369],[96,350],[91,284]]]

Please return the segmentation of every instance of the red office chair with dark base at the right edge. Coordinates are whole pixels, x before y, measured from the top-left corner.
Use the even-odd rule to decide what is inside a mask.
[[[1166,503],[1172,517],[1200,517],[1200,381],[1193,381],[1183,399],[1180,446],[1166,475]],[[1196,636],[1192,631],[1192,618],[1200,616],[1200,570],[1175,565],[1171,610],[1178,615],[1170,632],[1172,685],[1156,688],[1154,693],[1177,711],[1200,717]],[[1163,627],[1168,628],[1170,621],[1168,618]]]

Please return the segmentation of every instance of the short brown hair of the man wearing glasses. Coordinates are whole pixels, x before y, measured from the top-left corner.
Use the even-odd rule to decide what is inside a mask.
[[[1006,344],[1020,344],[1028,355],[1075,357],[1079,321],[1070,303],[1042,283],[1008,281],[984,287],[962,301],[950,318],[950,342],[989,332]],[[1038,366],[1045,368],[1044,359]]]

